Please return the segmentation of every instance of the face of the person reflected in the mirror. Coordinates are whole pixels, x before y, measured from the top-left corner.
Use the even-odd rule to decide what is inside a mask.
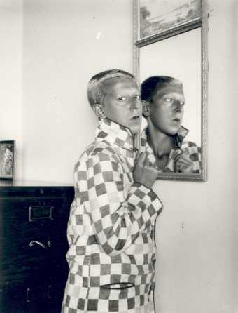
[[[183,121],[183,89],[166,86],[160,89],[151,102],[151,121],[162,133],[175,135]]]

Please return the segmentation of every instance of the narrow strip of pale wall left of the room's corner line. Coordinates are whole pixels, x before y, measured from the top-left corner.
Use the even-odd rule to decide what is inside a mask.
[[[16,140],[16,178],[22,159],[22,0],[0,0],[0,140]]]

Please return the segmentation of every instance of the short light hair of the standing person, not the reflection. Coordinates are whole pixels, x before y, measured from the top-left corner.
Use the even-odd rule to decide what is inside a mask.
[[[90,106],[93,107],[95,104],[100,104],[102,96],[104,95],[103,87],[105,82],[108,82],[109,79],[117,79],[121,77],[136,81],[134,75],[125,72],[122,69],[109,69],[92,76],[87,85],[87,99],[88,102],[90,102]]]

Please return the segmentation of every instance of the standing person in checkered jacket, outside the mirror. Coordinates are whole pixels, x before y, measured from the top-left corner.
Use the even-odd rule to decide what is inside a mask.
[[[139,88],[132,74],[111,69],[90,79],[87,96],[99,126],[75,166],[62,312],[154,312],[162,204],[151,189],[157,170],[135,147]]]

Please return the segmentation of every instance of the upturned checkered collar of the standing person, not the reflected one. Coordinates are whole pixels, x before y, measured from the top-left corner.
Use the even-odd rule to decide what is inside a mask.
[[[127,150],[134,150],[134,138],[130,129],[107,118],[100,121],[96,129],[96,138]]]

